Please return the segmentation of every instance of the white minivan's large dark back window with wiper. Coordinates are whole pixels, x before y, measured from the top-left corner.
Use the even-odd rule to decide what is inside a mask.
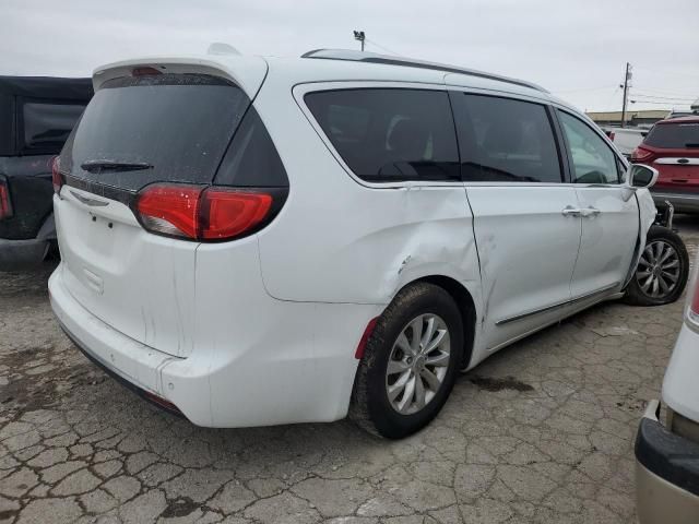
[[[130,191],[155,181],[210,183],[249,103],[210,75],[114,79],[66,143],[62,170]],[[137,167],[118,167],[129,165]]]

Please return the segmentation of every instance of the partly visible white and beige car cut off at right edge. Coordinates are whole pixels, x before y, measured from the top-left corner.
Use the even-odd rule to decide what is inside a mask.
[[[636,493],[640,524],[699,522],[699,279],[687,294],[685,321],[663,381],[666,424],[652,401],[636,438]]]

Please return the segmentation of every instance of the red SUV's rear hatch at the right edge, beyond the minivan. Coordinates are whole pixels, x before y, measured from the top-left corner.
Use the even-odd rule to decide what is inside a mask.
[[[699,191],[699,120],[657,123],[633,159],[660,171],[659,190]]]

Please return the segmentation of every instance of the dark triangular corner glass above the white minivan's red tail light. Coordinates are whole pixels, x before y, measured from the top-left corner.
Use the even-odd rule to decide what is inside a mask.
[[[250,107],[223,159],[216,183],[238,187],[287,187],[284,165],[262,120]]]

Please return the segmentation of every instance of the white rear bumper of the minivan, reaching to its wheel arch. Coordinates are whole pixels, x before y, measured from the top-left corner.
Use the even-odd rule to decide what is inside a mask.
[[[62,264],[49,279],[49,295],[61,326],[90,359],[137,393],[154,394],[206,427],[343,418],[357,367],[354,352],[377,314],[376,306],[270,298],[264,311],[254,310],[265,318],[264,331],[230,333],[225,346],[196,344],[189,357],[179,358],[126,336],[83,308],[63,283]]]

